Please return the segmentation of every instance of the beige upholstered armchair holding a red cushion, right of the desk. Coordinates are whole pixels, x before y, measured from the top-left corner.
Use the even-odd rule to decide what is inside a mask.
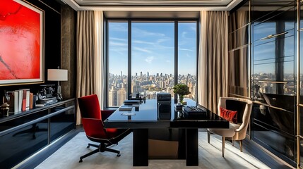
[[[247,127],[251,116],[253,103],[249,99],[241,99],[235,97],[220,97],[218,103],[218,115],[220,115],[220,107],[231,111],[237,111],[238,123],[230,123],[230,128],[209,128],[208,143],[210,143],[210,134],[218,134],[222,136],[222,156],[224,157],[225,139],[231,139],[232,145],[234,140],[239,141],[240,151],[242,152],[242,140],[246,137]]]

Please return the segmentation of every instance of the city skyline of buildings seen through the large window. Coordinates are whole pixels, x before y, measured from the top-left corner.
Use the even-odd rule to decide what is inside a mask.
[[[157,93],[170,93],[174,97],[174,75],[157,73],[155,75],[142,72],[136,73],[131,77],[131,97],[136,97],[139,94],[145,99],[156,99]],[[186,84],[189,87],[191,94],[185,98],[196,99],[196,76],[195,75],[178,75],[178,83]],[[109,73],[108,78],[108,106],[121,106],[124,100],[128,99],[128,75],[123,73]]]

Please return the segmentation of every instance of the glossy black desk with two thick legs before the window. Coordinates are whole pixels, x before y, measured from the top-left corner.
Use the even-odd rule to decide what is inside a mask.
[[[173,103],[173,102],[172,102]],[[188,106],[196,105],[195,101],[187,100]],[[227,120],[221,119],[215,113],[207,111],[198,119],[178,119],[179,112],[174,111],[174,104],[171,106],[171,118],[161,120],[157,113],[157,101],[146,100],[138,111],[135,108],[132,112],[135,115],[121,115],[125,111],[117,111],[105,120],[105,127],[131,128],[133,129],[133,166],[148,166],[148,129],[151,128],[183,128],[185,129],[185,158],[186,165],[198,165],[198,128],[220,127],[228,128]]]

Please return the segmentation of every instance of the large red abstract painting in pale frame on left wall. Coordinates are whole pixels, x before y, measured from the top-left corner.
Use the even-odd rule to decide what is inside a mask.
[[[13,10],[13,12],[15,12],[15,13],[10,12],[10,13],[8,13],[9,15],[4,15],[4,14],[0,15],[0,33],[1,33],[1,28],[2,28],[2,32],[6,31],[6,36],[8,37],[8,38],[4,38],[2,40],[0,39],[0,46],[7,45],[9,43],[13,44],[13,42],[12,42],[13,40],[11,40],[11,39],[13,39],[14,37],[9,37],[9,36],[11,36],[11,34],[13,34],[12,33],[13,30],[17,30],[17,31],[21,32],[20,30],[22,30],[22,28],[23,28],[22,24],[27,22],[24,20],[27,20],[29,18],[27,15],[22,13],[22,11],[26,10],[28,15],[30,15],[30,16],[35,15],[35,17],[32,17],[32,18],[35,18],[35,24],[32,24],[32,27],[30,27],[31,25],[29,23],[28,23],[28,25],[23,25],[24,27],[26,27],[26,29],[28,29],[32,32],[25,30],[22,32],[23,34],[19,33],[18,36],[15,35],[16,43],[11,45],[12,48],[14,48],[14,47],[17,48],[18,54],[25,54],[25,56],[28,56],[28,57],[18,55],[18,57],[15,58],[16,54],[15,55],[8,55],[8,54],[5,55],[6,53],[11,52],[13,49],[11,49],[11,51],[8,51],[9,49],[6,50],[8,52],[6,52],[4,49],[4,52],[2,52],[2,53],[0,50],[0,64],[2,64],[0,66],[3,67],[2,70],[0,68],[0,86],[44,83],[44,11],[35,5],[29,4],[27,1],[11,0],[10,2],[16,6],[18,5],[19,7],[18,7],[18,10],[16,10],[16,9]],[[6,2],[3,2],[3,3],[6,3]],[[2,22],[2,24],[1,24],[1,20],[6,21],[5,17],[6,18],[11,17],[11,20],[6,23]],[[13,17],[15,17],[15,20],[13,20],[14,19]],[[22,20],[22,17],[24,17],[23,18],[24,20]],[[32,19],[32,20],[34,20],[34,19]],[[13,24],[16,24],[16,25],[11,24],[10,22]],[[23,22],[23,23],[21,23],[21,22]],[[16,27],[18,27],[18,28],[16,28]],[[7,30],[9,30],[11,32],[8,32]],[[33,34],[35,34],[35,35],[33,35]],[[30,38],[26,39],[27,38],[26,35],[28,35],[28,37],[30,37]],[[17,39],[17,37],[20,37],[20,36],[23,36],[22,37],[23,39],[21,39],[21,40]],[[27,40],[28,40],[28,46],[30,46],[30,44],[35,44],[31,47],[32,49],[29,49],[30,47],[28,47],[26,45],[24,47],[22,47],[22,46],[20,47],[20,45],[18,44],[20,42],[22,42],[23,44],[24,43],[27,44],[27,42],[26,42]],[[28,51],[24,51],[24,50],[28,50]],[[25,52],[27,52],[27,53],[25,53]],[[3,55],[3,53],[4,53],[4,55]],[[6,56],[6,58],[5,58],[5,56]],[[6,60],[7,63],[6,63],[5,59],[7,59]],[[16,65],[16,63],[14,63],[16,61],[20,61],[19,65],[21,65],[21,66]],[[11,63],[11,65],[13,65],[13,64],[15,64],[15,65],[11,66],[10,63]],[[24,65],[24,66],[22,67],[22,65]],[[17,73],[20,73],[20,75]]]

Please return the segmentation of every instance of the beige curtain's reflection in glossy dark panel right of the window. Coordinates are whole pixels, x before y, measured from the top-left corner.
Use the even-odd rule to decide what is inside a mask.
[[[249,96],[249,1],[230,13],[229,24],[229,93]]]

